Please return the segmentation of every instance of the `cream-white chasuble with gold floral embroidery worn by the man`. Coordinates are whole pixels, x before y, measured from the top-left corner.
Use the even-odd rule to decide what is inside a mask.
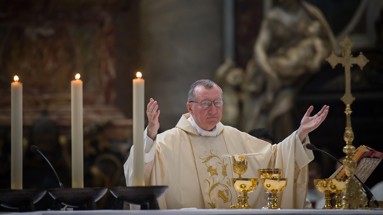
[[[314,156],[302,145],[297,132],[271,145],[221,122],[216,129],[216,136],[201,137],[188,113],[181,117],[175,128],[157,134],[144,160],[148,162],[145,184],[169,186],[158,199],[160,209],[229,208],[237,204],[238,193],[232,187],[231,179],[238,175],[232,171],[232,160],[219,155],[239,153],[263,153],[247,158],[243,178],[258,178],[259,168],[281,168],[282,178],[288,181],[283,192],[278,194],[280,207],[303,208],[308,183],[307,164]],[[133,186],[133,151],[131,149],[124,165],[127,186]],[[148,158],[149,155],[152,157]],[[248,196],[252,208],[262,208],[267,203],[261,183]]]

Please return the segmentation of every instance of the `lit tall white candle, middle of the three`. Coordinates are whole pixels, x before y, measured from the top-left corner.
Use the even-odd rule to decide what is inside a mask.
[[[82,80],[70,82],[72,105],[72,188],[84,188]]]

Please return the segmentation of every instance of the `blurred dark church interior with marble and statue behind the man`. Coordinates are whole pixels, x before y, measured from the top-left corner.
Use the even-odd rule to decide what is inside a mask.
[[[11,184],[11,82],[23,83],[23,188],[59,187],[36,145],[71,186],[71,87],[83,81],[84,187],[126,186],[133,145],[133,83],[145,80],[161,111],[159,133],[188,112],[189,86],[210,79],[223,90],[224,125],[265,128],[278,143],[301,117],[330,106],[310,142],[345,156],[345,72],[326,61],[348,36],[353,145],[382,151],[383,1],[380,0],[2,0],[0,1],[0,189]],[[145,121],[147,125],[147,119]],[[254,153],[257,153],[254,151]],[[336,162],[314,151],[316,176]],[[380,163],[366,181],[382,181]],[[310,176],[309,176],[310,177]],[[315,178],[313,178],[315,179]],[[383,192],[383,191],[382,191]],[[383,199],[380,199],[383,200]],[[51,208],[45,195],[36,210]],[[98,209],[111,209],[107,192]],[[0,206],[0,212],[15,211]]]

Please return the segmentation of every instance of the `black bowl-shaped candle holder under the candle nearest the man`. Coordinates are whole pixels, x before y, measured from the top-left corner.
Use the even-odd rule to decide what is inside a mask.
[[[158,210],[157,199],[165,194],[168,186],[133,186],[110,188],[117,200],[113,209],[123,209],[123,202],[141,205],[141,210]]]

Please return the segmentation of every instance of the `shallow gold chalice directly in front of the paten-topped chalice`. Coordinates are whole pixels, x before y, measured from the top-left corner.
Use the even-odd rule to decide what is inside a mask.
[[[247,203],[247,200],[249,197],[247,196],[248,193],[253,192],[258,187],[258,181],[257,178],[232,178],[232,184],[234,189],[238,191],[240,194],[242,193],[242,205],[241,207],[237,208],[251,208],[251,205]],[[239,202],[238,202],[239,203]]]

